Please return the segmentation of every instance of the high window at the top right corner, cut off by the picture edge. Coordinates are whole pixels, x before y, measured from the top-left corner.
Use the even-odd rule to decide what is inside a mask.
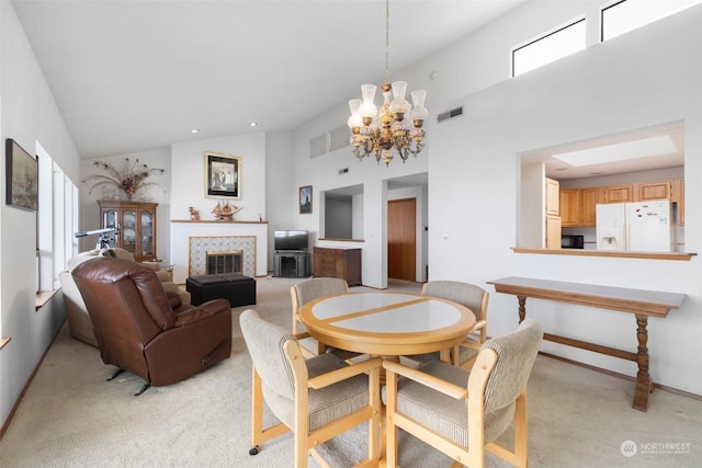
[[[677,13],[702,0],[618,0],[602,7],[601,38],[611,39],[661,18]]]

